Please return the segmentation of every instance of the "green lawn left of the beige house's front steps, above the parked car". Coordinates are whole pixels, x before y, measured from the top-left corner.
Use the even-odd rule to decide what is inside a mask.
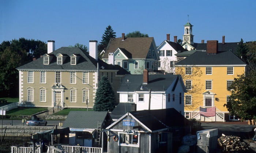
[[[7,111],[6,115],[33,115],[37,112],[45,111],[47,108],[15,108]]]

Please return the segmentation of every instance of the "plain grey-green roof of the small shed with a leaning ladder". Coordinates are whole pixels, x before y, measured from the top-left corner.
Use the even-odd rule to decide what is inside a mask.
[[[107,116],[107,111],[70,111],[62,127],[97,129],[98,121],[102,123]]]

